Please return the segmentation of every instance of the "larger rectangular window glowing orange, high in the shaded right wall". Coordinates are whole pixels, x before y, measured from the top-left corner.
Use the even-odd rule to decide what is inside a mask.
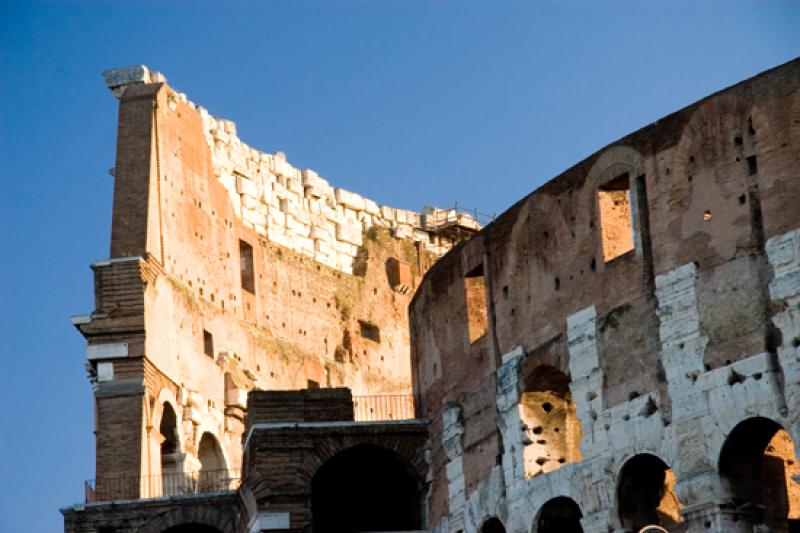
[[[633,250],[633,211],[631,183],[623,174],[597,190],[603,260],[608,262]]]

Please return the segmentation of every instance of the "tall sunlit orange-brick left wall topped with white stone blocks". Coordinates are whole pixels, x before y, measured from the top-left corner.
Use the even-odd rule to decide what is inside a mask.
[[[406,308],[454,244],[436,231],[449,212],[331,187],[146,67],[105,77],[120,101],[110,259],[92,266],[95,309],[73,317],[89,344],[98,486],[128,478],[115,497],[159,496],[162,465],[196,472],[201,455],[238,473],[253,389],[408,393]]]

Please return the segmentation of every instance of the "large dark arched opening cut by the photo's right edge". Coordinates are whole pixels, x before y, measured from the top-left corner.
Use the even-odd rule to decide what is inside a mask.
[[[750,418],[722,446],[719,473],[743,519],[769,531],[800,531],[800,466],[789,433],[768,418]]]

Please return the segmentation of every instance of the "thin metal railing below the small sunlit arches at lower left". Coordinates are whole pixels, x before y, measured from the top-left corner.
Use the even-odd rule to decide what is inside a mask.
[[[86,481],[86,502],[161,498],[239,488],[238,470],[164,472],[160,476],[118,476]]]

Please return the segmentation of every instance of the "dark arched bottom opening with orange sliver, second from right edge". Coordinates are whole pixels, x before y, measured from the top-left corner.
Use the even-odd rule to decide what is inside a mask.
[[[639,531],[645,526],[661,526],[667,531],[683,531],[681,503],[675,494],[675,475],[655,455],[635,455],[620,472],[617,506],[622,527]]]

